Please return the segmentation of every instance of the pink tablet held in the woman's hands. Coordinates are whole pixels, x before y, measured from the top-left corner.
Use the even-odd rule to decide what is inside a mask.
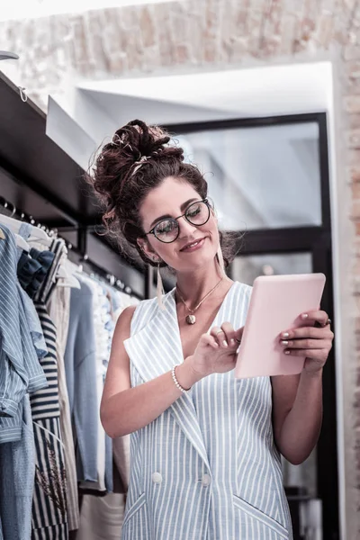
[[[238,349],[235,377],[302,372],[305,358],[285,355],[279,337],[286,329],[309,324],[300,315],[319,310],[325,280],[323,274],[257,277]]]

